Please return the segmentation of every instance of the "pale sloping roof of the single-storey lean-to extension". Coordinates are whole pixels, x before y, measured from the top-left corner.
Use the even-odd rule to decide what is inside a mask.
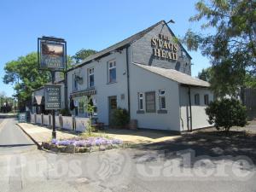
[[[201,87],[209,87],[210,84],[207,81],[203,81],[201,79],[196,79],[191,77],[188,74],[178,72],[174,69],[166,69],[160,67],[146,66],[142,64],[133,63],[137,67],[142,67],[143,69],[148,70],[149,72],[159,74],[167,79],[172,79],[180,84],[187,84],[191,86],[201,86]]]

